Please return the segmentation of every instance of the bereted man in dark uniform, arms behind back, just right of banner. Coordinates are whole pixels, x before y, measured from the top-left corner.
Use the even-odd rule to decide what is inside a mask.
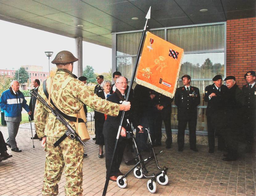
[[[190,86],[191,77],[189,75],[184,75],[181,79],[184,86],[177,88],[174,98],[175,105],[178,107],[178,150],[183,151],[185,128],[188,123],[189,146],[191,150],[197,152],[196,122],[200,92],[195,86]]]

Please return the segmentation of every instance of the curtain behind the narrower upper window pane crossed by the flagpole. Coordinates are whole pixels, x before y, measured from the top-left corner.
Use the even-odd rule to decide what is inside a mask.
[[[152,30],[152,34],[164,39],[164,30]],[[136,55],[142,32],[117,34],[117,56]]]

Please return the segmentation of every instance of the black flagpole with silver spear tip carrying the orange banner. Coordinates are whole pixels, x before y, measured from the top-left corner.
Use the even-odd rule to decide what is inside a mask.
[[[150,6],[150,8],[147,12],[146,17],[145,17],[145,18],[147,18],[147,21],[148,21],[148,19],[150,19],[150,14],[151,14],[151,6]],[[129,86],[127,96],[126,96],[126,101],[128,101],[130,90],[132,88],[133,81],[134,81],[134,78],[135,78],[135,74],[136,74],[136,70],[137,70],[137,66],[138,66],[138,62],[139,62],[139,55],[141,53],[142,44],[143,44],[143,41],[144,41],[144,38],[145,38],[145,35],[146,35],[147,21],[145,23],[144,30],[143,30],[143,33],[142,33],[142,36],[141,36],[140,45],[139,45],[139,48],[138,48],[138,53],[137,53],[137,57],[136,57],[133,72],[132,72],[131,82],[130,82],[130,86]],[[115,156],[115,153],[116,153],[117,143],[118,143],[119,135],[120,135],[121,128],[122,128],[122,122],[123,122],[123,119],[124,119],[124,114],[125,114],[125,111],[122,112],[122,117],[121,117],[121,121],[120,121],[119,128],[118,128],[118,133],[117,133],[117,137],[116,137],[114,152],[113,152],[113,156],[112,156],[112,159],[111,159],[109,171],[108,171],[107,176],[106,176],[106,182],[105,182],[105,186],[104,186],[102,196],[106,195],[107,188],[108,188],[108,185],[109,185],[110,170],[111,170],[111,167],[112,167],[112,164],[113,164],[113,161],[114,161],[114,156]]]

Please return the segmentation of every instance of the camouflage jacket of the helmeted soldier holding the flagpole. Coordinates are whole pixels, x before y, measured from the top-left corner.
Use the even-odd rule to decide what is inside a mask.
[[[57,99],[58,91],[62,82],[72,77],[72,80],[62,91],[60,101],[58,103],[58,107],[61,108],[65,114],[77,114],[81,107],[86,104],[93,110],[99,111],[101,113],[111,116],[118,115],[118,104],[99,98],[96,94],[91,92],[83,82],[75,79],[73,76],[74,75],[70,71],[66,69],[59,69],[56,71],[52,81],[51,97],[54,96],[54,98]],[[48,86],[47,90],[49,92]],[[43,97],[45,101],[47,101],[47,98],[43,92],[43,85],[39,86],[38,93]],[[67,130],[66,127],[56,119],[56,117],[52,115],[49,116],[50,112],[51,111],[43,106],[41,102],[38,100],[36,101],[34,120],[35,128],[39,138],[43,137],[44,135],[51,137],[61,137]],[[73,124],[72,128],[74,130],[76,129]]]

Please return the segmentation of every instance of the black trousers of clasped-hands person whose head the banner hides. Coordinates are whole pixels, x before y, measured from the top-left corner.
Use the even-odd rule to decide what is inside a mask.
[[[151,134],[152,142],[160,143],[162,140],[162,122],[164,122],[166,132],[166,144],[172,143],[171,134],[171,113],[166,111],[156,111],[155,114],[155,133]]]

